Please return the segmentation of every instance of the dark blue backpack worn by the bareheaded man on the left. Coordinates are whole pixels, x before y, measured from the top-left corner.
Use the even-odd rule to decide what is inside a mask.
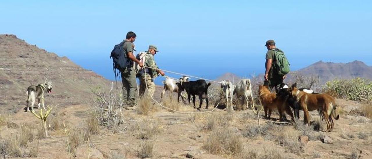
[[[128,59],[124,51],[124,47],[123,47],[125,42],[129,42],[129,41],[123,41],[119,43],[118,45],[115,45],[114,49],[112,49],[111,51],[110,58],[112,58],[115,81],[116,81],[116,77],[118,77],[119,72],[121,70],[124,70],[130,67],[130,60]]]

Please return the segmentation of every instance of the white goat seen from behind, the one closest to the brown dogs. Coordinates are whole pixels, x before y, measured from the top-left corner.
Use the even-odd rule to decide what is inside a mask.
[[[252,85],[251,85],[251,80],[245,78],[241,79],[240,82],[236,85],[235,91],[233,94],[236,93],[237,98],[239,99],[240,96],[244,96],[244,98],[247,101],[247,108],[249,106],[248,101],[250,97],[252,101],[252,110],[254,111],[254,104],[253,104],[253,93],[252,93]],[[254,111],[255,112],[255,111]]]

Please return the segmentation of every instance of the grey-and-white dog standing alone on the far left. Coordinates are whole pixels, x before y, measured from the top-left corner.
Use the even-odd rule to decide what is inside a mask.
[[[45,105],[44,105],[45,95],[47,93],[52,93],[52,82],[51,81],[47,82],[47,79],[45,79],[44,83],[41,83],[39,85],[29,86],[26,91],[27,112],[30,112],[30,107],[29,107],[30,102],[31,102],[31,110],[33,111],[33,105],[35,104],[36,99],[38,100],[38,109],[41,108],[40,107],[40,101],[41,101],[41,104],[44,110],[47,110],[45,109]]]

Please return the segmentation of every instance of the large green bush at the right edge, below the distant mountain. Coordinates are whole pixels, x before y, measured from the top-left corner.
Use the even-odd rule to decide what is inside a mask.
[[[328,93],[337,98],[353,101],[370,102],[372,100],[372,82],[363,78],[351,80],[328,81],[323,86],[323,93]]]

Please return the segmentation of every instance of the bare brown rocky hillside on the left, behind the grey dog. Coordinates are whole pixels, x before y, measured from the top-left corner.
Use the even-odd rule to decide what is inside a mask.
[[[76,105],[90,101],[91,89],[110,82],[93,71],[30,45],[15,35],[0,35],[0,113],[18,111],[25,107],[26,89],[45,81],[53,82],[52,94],[45,104]]]

